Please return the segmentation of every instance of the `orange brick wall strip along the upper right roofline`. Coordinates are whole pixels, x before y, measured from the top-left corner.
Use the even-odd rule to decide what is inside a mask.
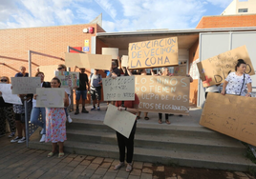
[[[196,29],[255,27],[256,14],[204,16]]]

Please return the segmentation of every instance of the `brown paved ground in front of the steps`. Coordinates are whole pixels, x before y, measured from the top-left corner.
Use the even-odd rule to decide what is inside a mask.
[[[252,179],[248,173],[215,169],[192,169],[134,162],[131,173],[114,170],[118,161],[111,158],[66,153],[47,158],[49,151],[27,149],[25,143],[11,144],[0,138],[0,178],[102,178],[102,179]]]

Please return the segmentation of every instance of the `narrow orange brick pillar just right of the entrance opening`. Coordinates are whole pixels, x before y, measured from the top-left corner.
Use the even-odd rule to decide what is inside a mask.
[[[199,58],[199,40],[189,49],[189,64]],[[190,83],[189,101],[193,104],[197,104],[198,99],[198,81],[195,80]]]

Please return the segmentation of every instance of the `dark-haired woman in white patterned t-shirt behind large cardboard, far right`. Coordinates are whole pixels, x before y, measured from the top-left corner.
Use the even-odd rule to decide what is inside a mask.
[[[250,97],[252,81],[249,74],[245,74],[246,63],[243,59],[238,60],[235,70],[235,72],[230,72],[225,78],[221,93],[223,95],[227,93]]]

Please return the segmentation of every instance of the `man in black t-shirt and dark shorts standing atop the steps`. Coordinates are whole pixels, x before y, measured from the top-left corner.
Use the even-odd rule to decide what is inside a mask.
[[[75,66],[75,70],[78,68]],[[82,113],[88,113],[88,110],[85,109],[85,100],[87,99],[87,90],[90,90],[89,82],[88,82],[88,76],[85,73],[84,68],[79,68],[80,73],[79,73],[79,88],[75,90],[75,103],[76,103],[76,109],[75,109],[75,114],[79,113],[79,100],[80,97],[82,96]],[[87,88],[86,88],[87,86]]]

